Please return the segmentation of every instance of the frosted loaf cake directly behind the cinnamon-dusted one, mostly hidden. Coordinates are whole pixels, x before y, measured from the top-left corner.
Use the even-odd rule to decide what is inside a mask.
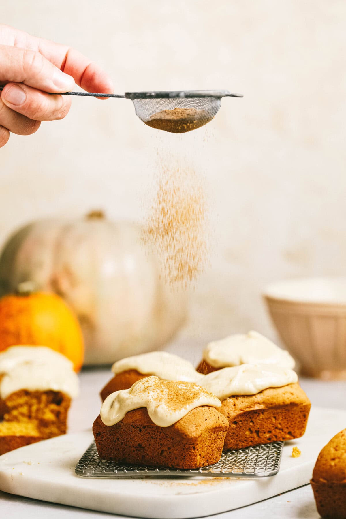
[[[196,382],[201,378],[201,374],[189,361],[165,351],[151,351],[121,359],[113,364],[112,371],[114,377],[101,391],[102,401],[110,393],[120,389],[129,389],[137,380],[148,375],[155,375],[162,380],[183,380],[185,382]]]

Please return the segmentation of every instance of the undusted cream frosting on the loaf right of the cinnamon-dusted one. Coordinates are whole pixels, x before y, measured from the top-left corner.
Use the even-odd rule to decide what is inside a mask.
[[[297,373],[286,367],[270,364],[242,364],[224,367],[205,375],[200,385],[220,400],[235,395],[256,394],[267,388],[294,384]]]

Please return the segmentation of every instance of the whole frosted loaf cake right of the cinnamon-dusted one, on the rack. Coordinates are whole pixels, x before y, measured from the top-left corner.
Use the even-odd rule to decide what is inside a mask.
[[[200,384],[216,395],[228,420],[224,449],[293,440],[305,433],[310,401],[293,370],[242,364],[205,375]]]

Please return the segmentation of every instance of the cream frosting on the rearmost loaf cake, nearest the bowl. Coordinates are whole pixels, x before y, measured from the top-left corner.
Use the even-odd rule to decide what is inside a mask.
[[[275,364],[290,369],[295,366],[288,351],[254,331],[209,343],[203,352],[203,359],[216,368],[240,364]]]

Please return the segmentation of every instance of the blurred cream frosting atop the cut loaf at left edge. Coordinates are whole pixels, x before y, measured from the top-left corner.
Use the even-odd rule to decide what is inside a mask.
[[[78,377],[72,362],[51,348],[11,346],[0,353],[0,398],[20,389],[61,391],[75,398]]]

